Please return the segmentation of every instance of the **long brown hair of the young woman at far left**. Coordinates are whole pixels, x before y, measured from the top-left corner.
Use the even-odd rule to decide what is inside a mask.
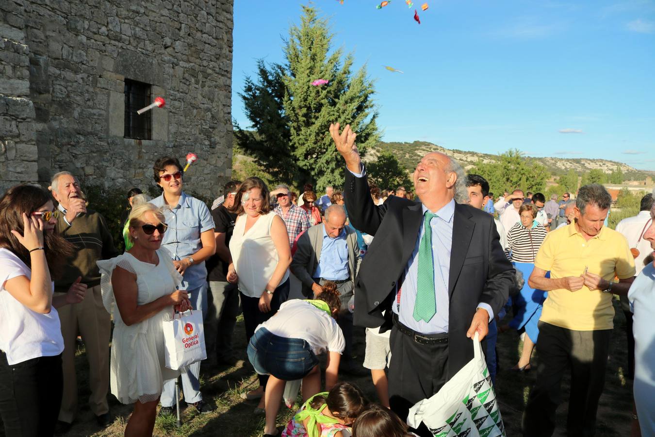
[[[11,231],[17,231],[22,235],[25,232],[23,229],[23,213],[29,217],[38,208],[46,204],[48,200],[52,201],[48,191],[28,183],[22,183],[10,188],[0,199],[0,247],[10,250],[30,269],[31,257],[29,252],[25,246],[20,244],[18,238],[14,237]],[[45,247],[45,257],[48,261],[50,276],[53,279],[59,278],[65,263],[75,253],[75,246],[53,230],[43,232],[43,247]]]

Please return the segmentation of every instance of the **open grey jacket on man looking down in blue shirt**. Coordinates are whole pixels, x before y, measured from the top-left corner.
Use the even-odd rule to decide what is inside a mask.
[[[321,259],[321,250],[323,248],[323,223],[314,225],[307,229],[300,238],[298,238],[298,250],[291,261],[291,272],[303,283],[303,295],[310,297],[314,279],[312,275],[318,267],[318,261]],[[346,229],[346,243],[348,244],[348,270],[350,271],[350,280],[354,281],[355,275],[360,268],[360,250],[357,246],[357,235],[349,227]]]

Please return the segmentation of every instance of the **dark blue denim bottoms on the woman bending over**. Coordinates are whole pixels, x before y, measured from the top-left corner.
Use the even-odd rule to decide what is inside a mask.
[[[259,328],[250,339],[248,359],[259,375],[283,381],[301,379],[318,364],[307,341],[280,337],[266,328]]]

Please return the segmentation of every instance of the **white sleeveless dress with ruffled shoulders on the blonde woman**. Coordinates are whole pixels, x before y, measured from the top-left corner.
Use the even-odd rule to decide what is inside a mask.
[[[166,307],[154,316],[127,326],[115,305],[111,275],[116,266],[136,275],[138,305],[145,305],[163,295],[171,294],[182,280],[166,250],[157,251],[159,264],[139,261],[128,252],[112,259],[97,261],[102,278],[102,301],[113,316],[114,332],[111,343],[111,393],[122,404],[157,400],[167,379],[179,371],[164,366],[164,332],[162,321],[170,320],[173,307]]]

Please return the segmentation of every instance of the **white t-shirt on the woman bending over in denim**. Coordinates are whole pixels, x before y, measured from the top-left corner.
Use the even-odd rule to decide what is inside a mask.
[[[301,299],[282,303],[278,313],[257,326],[285,338],[299,338],[307,341],[314,354],[323,352],[343,353],[346,341],[343,332],[329,314]]]

